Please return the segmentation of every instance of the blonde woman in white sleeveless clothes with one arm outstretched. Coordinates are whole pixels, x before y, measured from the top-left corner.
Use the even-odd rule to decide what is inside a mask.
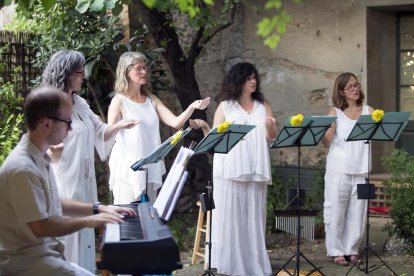
[[[148,177],[145,171],[131,170],[131,165],[161,144],[160,121],[178,129],[194,110],[205,109],[210,104],[210,98],[196,100],[180,115],[174,115],[157,96],[150,93],[146,61],[142,53],[126,52],[121,55],[116,69],[117,94],[109,107],[108,124],[116,124],[121,119],[139,120],[139,124],[134,129],[119,131],[111,152],[109,185],[115,204],[138,200],[146,187],[150,201],[155,200],[165,173],[164,162],[148,164]]]

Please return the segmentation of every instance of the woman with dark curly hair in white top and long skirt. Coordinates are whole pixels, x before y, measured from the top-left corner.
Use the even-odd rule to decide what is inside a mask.
[[[256,127],[229,153],[214,154],[211,264],[220,274],[270,275],[265,244],[267,185],[272,183],[268,142],[276,138],[276,123],[254,65],[234,65],[217,100],[214,126],[228,121]],[[191,125],[209,130],[202,120]]]

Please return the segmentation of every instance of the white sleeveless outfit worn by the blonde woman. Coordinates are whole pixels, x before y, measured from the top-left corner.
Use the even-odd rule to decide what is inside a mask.
[[[140,120],[135,127],[117,133],[109,158],[109,187],[114,195],[114,204],[128,204],[145,191],[146,172],[133,171],[131,165],[147,157],[161,144],[159,118],[150,97],[142,104],[131,101],[122,94],[116,97],[122,101],[124,118]],[[144,167],[148,168],[148,194],[150,200],[154,201],[156,191],[162,186],[164,161]]]

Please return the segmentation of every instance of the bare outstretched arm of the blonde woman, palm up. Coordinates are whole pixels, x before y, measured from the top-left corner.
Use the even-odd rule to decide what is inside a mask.
[[[187,109],[184,110],[180,115],[175,116],[174,113],[172,113],[171,110],[169,110],[168,107],[164,105],[160,98],[155,95],[152,97],[156,103],[157,113],[160,117],[160,120],[166,125],[176,129],[179,129],[184,125],[184,123],[191,117],[194,110],[204,110],[210,104],[210,97],[203,100],[196,100],[191,105],[189,105]]]

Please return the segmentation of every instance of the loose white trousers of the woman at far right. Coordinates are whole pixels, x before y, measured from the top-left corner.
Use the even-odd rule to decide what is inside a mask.
[[[367,219],[367,200],[357,198],[357,184],[366,174],[325,173],[323,217],[327,255],[358,255]]]

